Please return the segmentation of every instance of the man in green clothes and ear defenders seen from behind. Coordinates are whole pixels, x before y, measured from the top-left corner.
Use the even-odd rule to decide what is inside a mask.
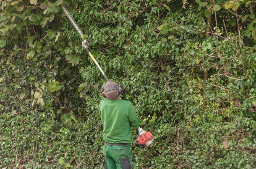
[[[131,169],[131,128],[139,126],[132,103],[120,99],[119,89],[115,82],[107,81],[104,85],[107,98],[99,103],[105,141],[105,169]]]

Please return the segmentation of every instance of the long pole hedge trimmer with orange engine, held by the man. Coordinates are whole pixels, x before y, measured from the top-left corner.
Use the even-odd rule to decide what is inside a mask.
[[[83,36],[84,34],[80,30],[80,28],[78,27],[78,25],[76,24],[75,20],[72,18],[72,16],[68,12],[68,10],[64,7],[64,5],[62,5],[61,7],[62,7],[63,11],[65,12],[65,14],[67,15],[68,19],[70,20],[70,22],[72,23],[72,25],[76,28],[76,30],[79,33],[79,35]],[[91,52],[89,50],[89,46],[90,46],[89,40],[88,39],[84,39],[83,42],[82,42],[82,46],[84,47],[86,52],[91,56],[92,60],[97,65],[97,67],[101,71],[101,73],[104,76],[104,78],[107,81],[109,81],[109,79],[107,78],[106,74],[102,71],[101,67],[99,66],[99,63],[96,61],[96,59],[94,58],[94,56],[91,54]],[[142,147],[144,149],[144,148],[146,148],[146,146],[149,146],[149,145],[152,144],[152,141],[153,141],[154,137],[153,137],[153,135],[149,131],[146,132],[146,131],[144,131],[143,129],[141,129],[139,127],[138,128],[138,135],[139,135],[138,139],[135,141],[135,145],[136,146]]]

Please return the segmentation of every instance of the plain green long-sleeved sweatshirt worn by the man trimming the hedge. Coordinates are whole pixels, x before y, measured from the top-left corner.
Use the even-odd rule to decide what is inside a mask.
[[[103,99],[99,103],[103,140],[108,143],[131,143],[131,127],[137,129],[138,117],[130,101]]]

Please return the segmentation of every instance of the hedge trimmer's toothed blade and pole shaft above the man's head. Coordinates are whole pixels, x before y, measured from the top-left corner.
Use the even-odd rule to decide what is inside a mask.
[[[78,27],[78,25],[76,24],[75,20],[72,18],[72,16],[70,15],[70,13],[68,12],[68,10],[64,7],[64,5],[62,6],[63,11],[65,12],[65,14],[67,15],[68,19],[70,20],[70,22],[72,23],[72,25],[76,28],[77,32],[79,33],[80,36],[83,36],[84,34],[82,33],[82,31],[80,30],[80,28]],[[86,50],[86,52],[90,55],[91,59],[94,61],[94,63],[97,65],[97,67],[99,68],[99,70],[101,71],[102,75],[104,76],[104,78],[109,81],[109,79],[107,78],[106,74],[102,71],[102,68],[99,66],[99,63],[96,61],[96,59],[94,58],[94,56],[91,54],[90,50],[89,50],[89,41],[88,39],[84,39],[82,42],[82,46],[84,47],[84,49]]]

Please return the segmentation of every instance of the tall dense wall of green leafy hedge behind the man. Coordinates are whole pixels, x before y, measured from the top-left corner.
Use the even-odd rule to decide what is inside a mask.
[[[255,168],[254,1],[211,2],[1,1],[0,166],[103,167],[105,81],[63,4],[154,135],[133,168]]]

